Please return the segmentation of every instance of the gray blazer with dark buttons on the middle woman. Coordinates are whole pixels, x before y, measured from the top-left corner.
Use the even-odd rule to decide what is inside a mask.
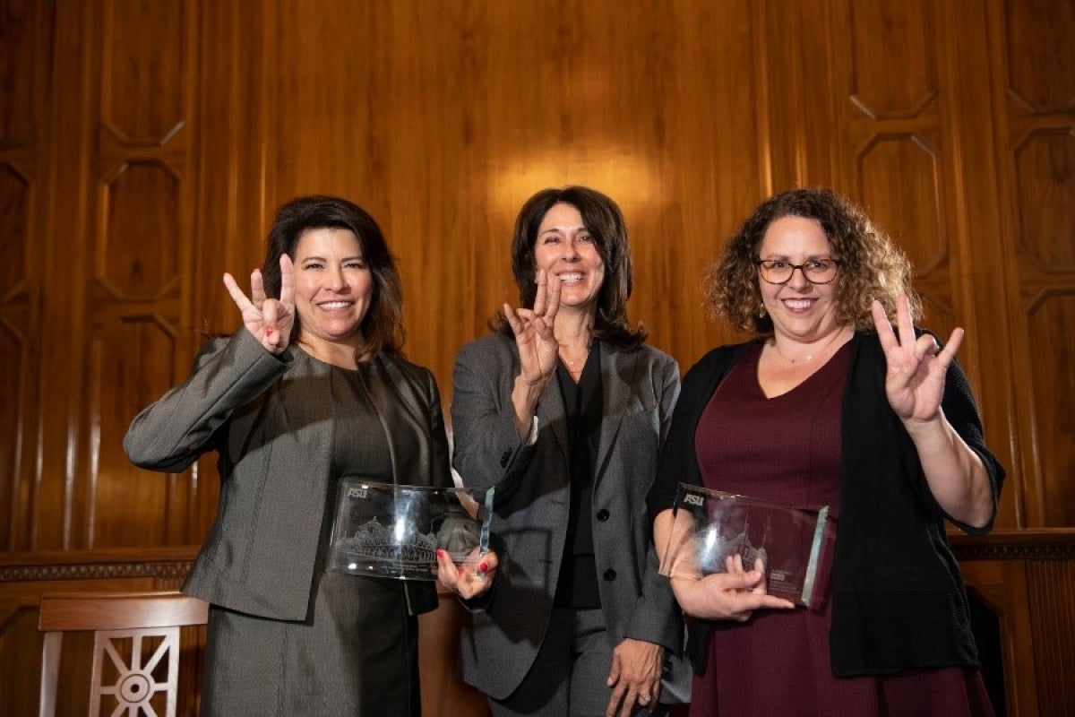
[[[500,567],[461,645],[463,678],[493,699],[511,694],[538,655],[568,531],[563,399],[549,382],[538,407],[538,441],[525,445],[511,399],[518,373],[513,340],[494,333],[471,342],[456,357],[452,400],[456,470],[467,486],[497,488],[490,543]],[[672,657],[661,701],[686,701],[683,614],[668,578],[657,574],[645,501],[679,393],[679,369],[655,348],[602,343],[601,381],[592,526],[608,637],[613,647],[625,637],[663,645]]]

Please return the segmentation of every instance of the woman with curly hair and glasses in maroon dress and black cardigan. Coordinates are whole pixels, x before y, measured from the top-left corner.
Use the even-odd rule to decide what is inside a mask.
[[[823,188],[763,202],[711,271],[715,313],[755,338],[684,377],[647,498],[657,549],[679,482],[829,505],[835,544],[811,607],[768,593],[764,565],[671,578],[692,715],[992,714],[945,521],[989,531],[1004,470],[954,360],[963,330],[942,348],[917,329],[911,279]]]

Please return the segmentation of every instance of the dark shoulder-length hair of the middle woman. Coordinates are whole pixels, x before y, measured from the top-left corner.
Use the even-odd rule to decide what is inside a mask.
[[[598,255],[604,262],[605,275],[598,291],[593,338],[621,348],[641,346],[646,340],[646,331],[641,325],[632,327],[627,318],[627,300],[631,298],[634,282],[627,223],[619,205],[596,189],[579,186],[542,189],[519,210],[512,238],[512,274],[519,287],[519,303],[526,309],[534,305],[538,296],[538,269],[534,261],[538,230],[545,215],[556,204],[571,204],[578,210],[583,226],[590,233]],[[512,327],[503,314],[497,315],[492,326],[506,335],[512,335]]]

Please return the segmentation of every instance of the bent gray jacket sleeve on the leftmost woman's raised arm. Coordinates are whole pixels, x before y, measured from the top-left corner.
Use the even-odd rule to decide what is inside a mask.
[[[131,421],[124,449],[131,462],[177,473],[213,448],[232,412],[264,392],[287,370],[289,356],[267,352],[245,329],[205,344],[190,375]]]

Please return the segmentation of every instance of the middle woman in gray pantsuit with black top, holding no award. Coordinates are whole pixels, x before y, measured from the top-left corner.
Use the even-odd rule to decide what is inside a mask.
[[[505,304],[455,365],[454,463],[465,485],[497,488],[499,555],[464,603],[463,677],[496,717],[664,712],[687,699],[684,625],[645,496],[678,365],[627,319],[631,256],[608,197],[531,197],[512,270],[522,307]]]

